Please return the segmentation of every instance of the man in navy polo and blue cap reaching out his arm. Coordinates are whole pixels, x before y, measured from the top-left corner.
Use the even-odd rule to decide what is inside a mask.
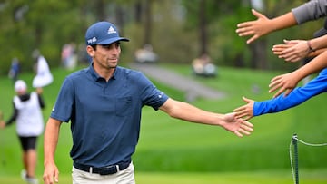
[[[120,37],[114,24],[98,22],[85,35],[88,68],[67,76],[45,128],[46,184],[58,182],[54,151],[62,122],[71,121],[73,183],[135,183],[134,153],[144,105],[173,118],[211,124],[249,135],[253,125],[234,113],[219,114],[178,102],[159,91],[143,73],[118,66]]]

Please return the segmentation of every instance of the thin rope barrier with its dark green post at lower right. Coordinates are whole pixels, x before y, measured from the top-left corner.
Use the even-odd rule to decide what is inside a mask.
[[[291,160],[291,169],[292,169],[292,179],[295,184],[299,184],[299,157],[298,157],[298,147],[297,142],[301,142],[307,146],[327,146],[327,143],[308,143],[303,140],[300,140],[296,134],[293,134],[291,144],[290,144],[290,160]],[[292,160],[292,145],[294,146],[294,160]],[[295,170],[293,167],[293,162],[295,162]]]

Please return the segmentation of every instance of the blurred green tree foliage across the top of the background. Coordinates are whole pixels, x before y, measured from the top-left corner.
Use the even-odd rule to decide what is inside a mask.
[[[198,9],[200,0],[194,1],[152,1],[152,32],[151,40],[154,52],[158,53],[160,62],[191,63],[201,51]],[[208,48],[213,62],[222,66],[250,67],[253,59],[249,46],[245,44],[247,38],[240,38],[235,34],[236,24],[254,20],[249,1],[205,1],[205,15],[208,24]],[[92,1],[74,0],[10,0],[0,3],[0,74],[7,74],[12,58],[17,57],[23,71],[32,71],[31,54],[38,48],[45,55],[51,66],[60,65],[63,44],[84,44],[84,32],[89,24],[98,20],[118,22],[124,36],[131,42],[124,50],[131,62],[134,51],[144,44],[144,23],[134,20],[136,3],[145,1],[116,0]],[[264,1],[266,8],[264,15],[274,17],[282,15],[292,7],[302,5],[302,1],[289,2]],[[97,5],[103,5],[99,9]],[[115,12],[122,10],[121,15]],[[15,13],[20,12],[17,18]],[[103,16],[101,13],[103,13]],[[143,15],[144,16],[144,15]],[[303,24],[291,29],[269,34],[266,40],[268,69],[280,69],[286,66],[281,60],[272,55],[273,44],[281,44],[282,39],[311,38],[312,33],[322,27],[322,21]],[[257,58],[254,58],[256,60]],[[294,65],[287,65],[287,69],[294,69]]]

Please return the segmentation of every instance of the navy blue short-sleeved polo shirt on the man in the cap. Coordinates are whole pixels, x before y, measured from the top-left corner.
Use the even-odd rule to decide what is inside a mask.
[[[117,67],[106,82],[91,64],[65,78],[51,117],[71,121],[74,162],[104,167],[131,160],[142,107],[156,111],[167,99],[143,73]]]

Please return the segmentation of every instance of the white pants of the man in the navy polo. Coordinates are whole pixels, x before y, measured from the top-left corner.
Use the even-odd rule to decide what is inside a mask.
[[[135,184],[133,162],[124,170],[110,175],[91,174],[73,167],[73,184]]]

